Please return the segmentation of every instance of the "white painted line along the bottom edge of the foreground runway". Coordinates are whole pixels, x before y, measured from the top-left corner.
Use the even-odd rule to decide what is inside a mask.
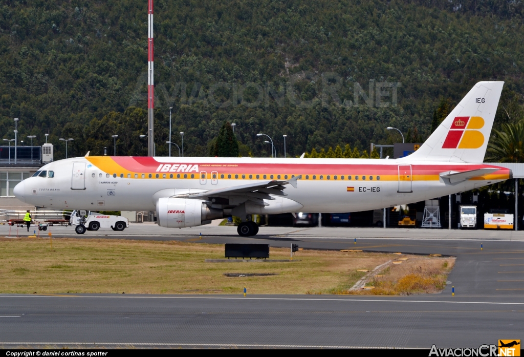
[[[246,344],[246,343],[133,343],[133,342],[0,342],[3,344],[20,345],[133,345],[133,346],[198,346],[198,347],[276,347],[276,348],[344,348],[344,349],[380,349],[380,350],[429,350],[429,348],[399,348],[399,347],[373,347],[373,346],[335,346],[335,345],[302,345],[302,344]]]

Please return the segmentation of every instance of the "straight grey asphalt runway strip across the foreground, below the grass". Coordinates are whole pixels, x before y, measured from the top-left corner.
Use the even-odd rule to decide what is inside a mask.
[[[478,347],[520,338],[524,303],[517,300],[1,296],[0,345]]]

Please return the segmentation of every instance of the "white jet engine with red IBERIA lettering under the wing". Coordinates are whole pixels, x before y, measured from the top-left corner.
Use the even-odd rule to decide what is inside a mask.
[[[209,208],[202,200],[167,197],[157,201],[157,224],[161,227],[194,227],[220,218],[223,211]]]

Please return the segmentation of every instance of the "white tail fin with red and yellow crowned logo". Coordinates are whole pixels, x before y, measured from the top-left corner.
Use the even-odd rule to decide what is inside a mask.
[[[504,82],[478,82],[405,160],[482,163]]]

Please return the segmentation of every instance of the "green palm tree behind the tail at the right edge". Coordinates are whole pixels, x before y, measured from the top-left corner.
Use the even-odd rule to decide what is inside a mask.
[[[488,159],[501,163],[524,163],[524,122],[503,124],[493,130],[488,144]]]

